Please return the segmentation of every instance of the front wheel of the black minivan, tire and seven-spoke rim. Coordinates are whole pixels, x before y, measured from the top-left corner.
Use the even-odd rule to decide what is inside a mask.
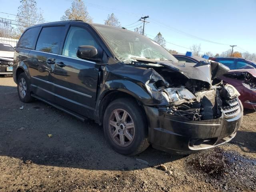
[[[130,98],[111,102],[104,113],[106,140],[120,154],[135,155],[149,146],[146,118],[138,103]]]

